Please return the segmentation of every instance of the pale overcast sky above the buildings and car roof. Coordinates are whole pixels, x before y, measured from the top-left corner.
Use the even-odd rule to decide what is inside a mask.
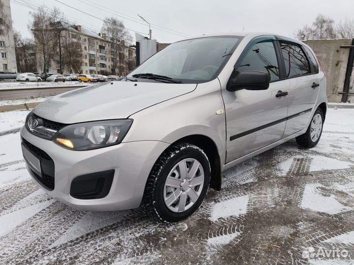
[[[45,3],[48,7],[57,6],[64,17],[77,25],[99,32],[105,17],[115,16],[124,22],[135,40],[134,31],[148,34],[150,24],[169,28],[151,28],[152,37],[161,43],[171,43],[185,38],[215,32],[261,31],[292,36],[297,28],[311,25],[321,13],[336,22],[353,18],[354,0],[59,0],[97,18],[83,14],[56,0],[11,0],[13,26],[23,36],[30,37],[28,7],[18,2],[31,3],[35,8]],[[95,7],[94,7],[95,6]],[[117,13],[118,12],[118,13]],[[113,13],[113,14],[112,14]],[[121,15],[122,13],[124,15]],[[119,16],[125,16],[122,18]],[[130,16],[130,17],[127,17]],[[100,19],[98,19],[100,18]],[[132,19],[134,21],[128,20]],[[139,24],[139,23],[143,23]],[[151,25],[152,26],[152,25]],[[156,27],[156,26],[152,26]],[[179,31],[183,34],[168,33],[163,30]],[[133,31],[134,30],[134,31]],[[179,36],[177,34],[183,35]]]

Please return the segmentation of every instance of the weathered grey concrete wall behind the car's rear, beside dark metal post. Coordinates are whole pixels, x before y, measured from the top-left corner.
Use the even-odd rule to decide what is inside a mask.
[[[303,41],[315,52],[327,74],[328,102],[341,102],[344,79],[347,71],[349,50],[340,48],[352,45],[352,39],[305,40]]]

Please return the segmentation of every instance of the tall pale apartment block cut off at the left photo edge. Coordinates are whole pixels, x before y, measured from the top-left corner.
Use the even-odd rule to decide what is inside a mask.
[[[0,72],[17,73],[10,0],[1,0],[0,8]]]

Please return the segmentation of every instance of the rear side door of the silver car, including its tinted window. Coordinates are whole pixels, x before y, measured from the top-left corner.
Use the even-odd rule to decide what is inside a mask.
[[[311,118],[320,91],[319,68],[315,59],[310,63],[309,53],[300,43],[279,39],[279,44],[285,79],[289,82],[289,107],[283,135],[287,137],[304,129]]]

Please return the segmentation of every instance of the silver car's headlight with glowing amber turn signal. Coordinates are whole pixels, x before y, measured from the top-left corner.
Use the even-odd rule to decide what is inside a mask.
[[[77,123],[64,127],[54,135],[53,141],[72,150],[91,150],[119,144],[133,120],[107,120]]]

